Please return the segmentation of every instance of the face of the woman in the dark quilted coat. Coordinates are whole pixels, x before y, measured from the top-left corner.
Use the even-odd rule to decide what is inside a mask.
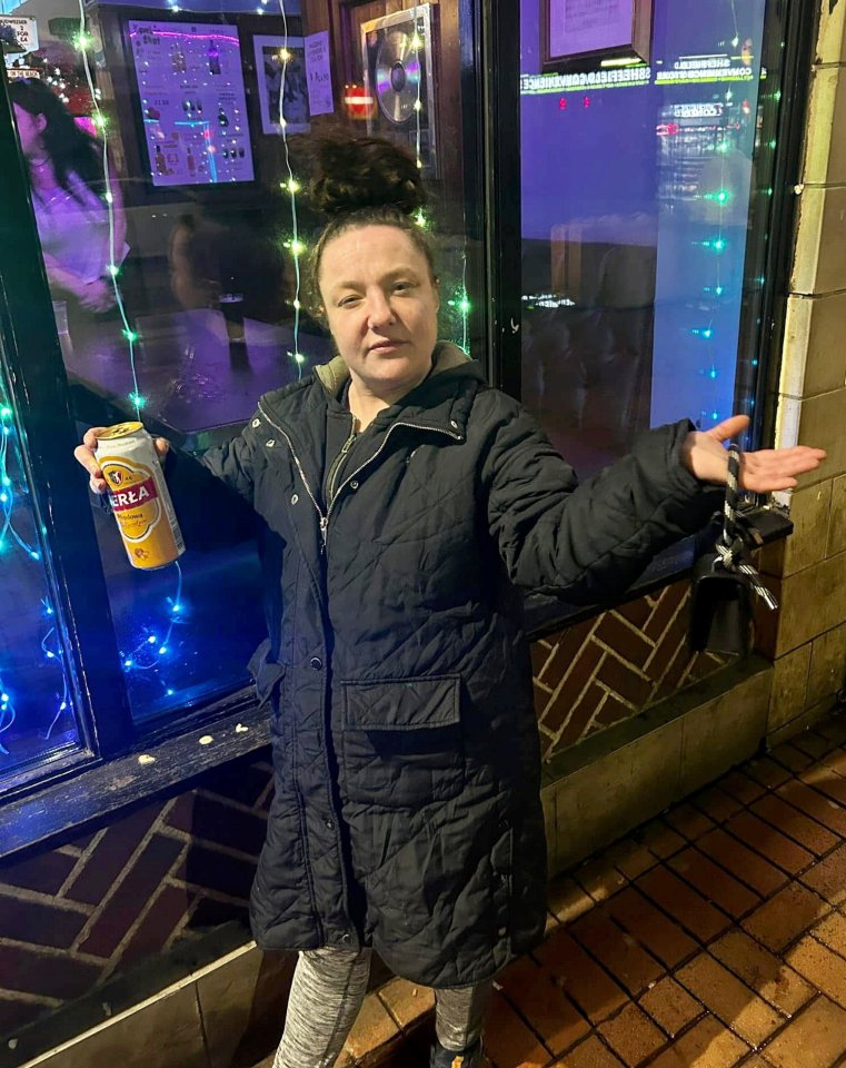
[[[347,230],[324,249],[320,296],[354,379],[397,400],[429,374],[440,299],[429,264],[395,226]]]

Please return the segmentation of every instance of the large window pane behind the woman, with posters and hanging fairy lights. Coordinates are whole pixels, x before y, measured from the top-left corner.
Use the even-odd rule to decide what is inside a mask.
[[[380,134],[418,158],[438,234],[442,336],[478,354],[457,4],[27,0],[7,55],[81,425],[141,419],[200,454],[258,397],[329,358],[302,258],[308,140]],[[466,43],[466,33],[465,33]],[[474,135],[475,136],[475,135]],[[209,515],[210,524],[215,516]],[[97,513],[135,718],[247,682],[261,636],[251,545],[130,566]]]

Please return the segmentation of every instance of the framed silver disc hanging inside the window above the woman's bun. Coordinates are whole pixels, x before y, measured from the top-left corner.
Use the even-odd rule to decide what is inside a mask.
[[[418,3],[361,23],[365,91],[374,100],[368,132],[407,146],[427,178],[438,176],[432,6]]]

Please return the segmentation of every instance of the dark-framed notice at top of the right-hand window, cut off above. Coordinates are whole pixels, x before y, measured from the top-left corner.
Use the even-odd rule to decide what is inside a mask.
[[[540,0],[545,72],[648,63],[651,36],[653,0]]]

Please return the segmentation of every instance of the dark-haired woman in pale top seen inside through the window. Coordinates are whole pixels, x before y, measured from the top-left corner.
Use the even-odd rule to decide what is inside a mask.
[[[116,303],[110,267],[120,266],[128,246],[117,182],[106,188],[102,148],[39,78],[12,81],[9,97],[29,166],[50,285],[59,295],[73,296],[88,312],[108,312]],[[113,208],[113,240],[107,192]]]

